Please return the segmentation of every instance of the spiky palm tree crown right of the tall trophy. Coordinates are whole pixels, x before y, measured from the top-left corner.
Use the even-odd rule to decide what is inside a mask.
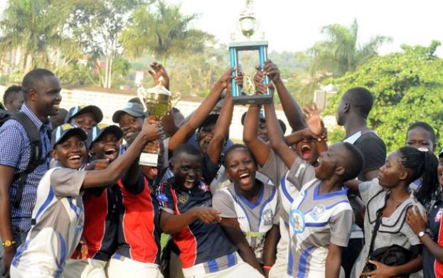
[[[324,26],[321,33],[328,39],[316,43],[308,50],[312,55],[309,70],[311,74],[332,74],[341,76],[363,65],[371,57],[377,55],[377,50],[383,43],[390,42],[391,38],[377,35],[363,46],[357,44],[358,23],[354,19],[350,28],[338,24]]]

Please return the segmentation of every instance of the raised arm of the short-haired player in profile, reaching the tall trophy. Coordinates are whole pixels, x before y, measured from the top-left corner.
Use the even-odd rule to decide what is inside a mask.
[[[273,102],[265,104],[265,115],[267,135],[269,136],[271,146],[275,152],[277,152],[277,155],[282,158],[284,164],[288,168],[291,168],[292,164],[294,164],[294,160],[297,158],[297,153],[289,148],[284,140],[283,131],[277,121]]]

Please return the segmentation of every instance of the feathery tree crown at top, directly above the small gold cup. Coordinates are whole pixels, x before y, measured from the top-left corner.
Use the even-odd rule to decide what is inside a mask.
[[[184,16],[180,6],[169,6],[164,1],[142,6],[134,11],[120,40],[124,53],[132,57],[152,54],[163,65],[169,57],[201,52],[212,35],[190,27],[196,14]]]

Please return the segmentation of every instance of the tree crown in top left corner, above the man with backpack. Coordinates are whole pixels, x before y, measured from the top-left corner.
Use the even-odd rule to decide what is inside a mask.
[[[0,52],[21,50],[23,68],[47,67],[61,52],[67,60],[80,55],[78,44],[64,33],[69,7],[61,0],[11,0],[0,21]]]

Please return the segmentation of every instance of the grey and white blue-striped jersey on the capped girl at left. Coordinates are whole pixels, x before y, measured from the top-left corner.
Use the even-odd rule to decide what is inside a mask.
[[[80,189],[86,171],[56,167],[40,181],[32,218],[35,223],[12,265],[23,277],[59,277],[83,230]]]

